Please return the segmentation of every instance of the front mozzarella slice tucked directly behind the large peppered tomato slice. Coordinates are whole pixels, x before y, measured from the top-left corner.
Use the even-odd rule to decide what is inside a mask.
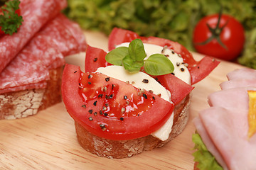
[[[164,100],[171,102],[171,93],[167,91],[164,86],[161,86],[159,82],[150,77],[148,74],[144,72],[138,72],[136,74],[131,74],[127,72],[122,66],[107,66],[100,67],[96,72],[100,72],[102,74],[106,74],[109,77],[113,77],[115,79],[119,79],[121,81],[129,81],[133,86],[145,89],[146,91],[153,91],[154,94],[161,94],[161,98]],[[147,80],[148,83],[144,83],[143,80]],[[171,117],[167,122],[156,132],[153,132],[151,135],[159,138],[159,140],[167,140],[169,134],[171,132],[172,125],[174,123],[174,113],[171,114]]]

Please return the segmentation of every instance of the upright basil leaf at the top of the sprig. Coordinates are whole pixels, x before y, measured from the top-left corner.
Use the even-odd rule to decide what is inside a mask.
[[[134,61],[143,62],[146,57],[146,52],[141,39],[135,39],[129,43],[129,56]]]

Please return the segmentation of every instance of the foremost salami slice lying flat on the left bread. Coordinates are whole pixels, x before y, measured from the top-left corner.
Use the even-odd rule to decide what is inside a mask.
[[[0,94],[46,86],[48,69],[64,64],[63,55],[48,37],[38,35],[0,74]]]

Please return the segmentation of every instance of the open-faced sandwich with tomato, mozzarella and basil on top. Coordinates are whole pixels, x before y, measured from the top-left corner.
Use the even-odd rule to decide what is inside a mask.
[[[66,64],[62,96],[78,142],[100,157],[162,147],[185,128],[193,84],[219,64],[185,47],[114,28],[109,51],[87,46],[85,72]]]

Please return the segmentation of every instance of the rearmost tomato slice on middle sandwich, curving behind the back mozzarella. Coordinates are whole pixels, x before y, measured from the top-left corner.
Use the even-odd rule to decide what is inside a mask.
[[[119,39],[119,37],[121,37],[121,39]],[[186,47],[183,47],[183,45],[180,45],[178,42],[166,40],[164,38],[139,37],[139,35],[137,35],[136,33],[130,30],[123,30],[121,28],[113,29],[112,33],[110,34],[109,48],[111,47],[110,50],[112,50],[115,47],[115,45],[119,45],[122,42],[130,42],[135,38],[140,38],[144,43],[160,45],[162,47],[167,45],[167,47],[169,47],[170,49],[174,50],[174,52],[181,55],[181,57],[183,58],[183,61],[188,64],[188,70],[191,74],[192,85],[206,78],[208,74],[210,74],[210,72],[212,72],[213,69],[217,67],[218,64],[220,63],[217,60],[208,60],[208,57],[206,59],[203,58],[202,59],[203,62],[202,60],[197,62],[196,60],[194,60],[191,52],[189,52],[186,49]],[[191,72],[191,70],[193,70],[193,72]]]

